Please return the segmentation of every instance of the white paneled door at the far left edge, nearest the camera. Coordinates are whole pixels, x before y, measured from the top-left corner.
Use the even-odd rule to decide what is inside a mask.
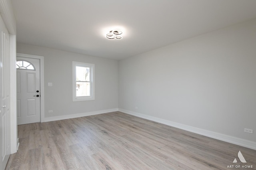
[[[0,169],[10,156],[10,36],[0,16]]]

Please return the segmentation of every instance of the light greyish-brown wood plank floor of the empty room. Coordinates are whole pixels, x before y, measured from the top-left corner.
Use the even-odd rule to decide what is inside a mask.
[[[256,168],[256,150],[121,112],[18,126],[10,170]],[[238,151],[247,163],[241,163]],[[234,158],[238,163],[232,163]],[[234,165],[234,168],[227,168]]]

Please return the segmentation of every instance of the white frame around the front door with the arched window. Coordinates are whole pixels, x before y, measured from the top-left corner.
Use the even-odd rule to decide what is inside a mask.
[[[17,53],[16,56],[40,60],[40,122],[44,122],[44,57],[39,55],[30,55],[23,53]]]

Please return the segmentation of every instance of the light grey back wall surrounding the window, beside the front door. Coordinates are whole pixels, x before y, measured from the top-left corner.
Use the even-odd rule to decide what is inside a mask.
[[[46,118],[118,108],[118,61],[23,43],[17,43],[17,52],[44,56]],[[95,64],[94,101],[72,101],[72,61]]]

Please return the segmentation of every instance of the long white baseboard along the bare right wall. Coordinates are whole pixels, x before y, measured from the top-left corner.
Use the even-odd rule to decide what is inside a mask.
[[[128,111],[128,110],[125,110],[125,109],[118,109],[118,111],[123,112],[123,113],[127,113],[129,115],[133,115],[133,116],[136,116],[136,117],[141,117],[143,119],[148,119],[150,121],[162,123],[164,125],[168,125],[168,126],[171,126],[171,127],[180,128],[180,129],[183,129],[183,130],[187,130],[189,132],[194,132],[194,133],[197,133],[197,134],[208,136],[210,138],[215,138],[215,139],[218,139],[218,140],[222,140],[222,141],[225,141],[225,142],[229,142],[229,143],[232,143],[232,144],[237,144],[237,145],[240,145],[240,146],[244,146],[246,148],[251,148],[251,149],[256,150],[256,142],[253,142],[253,141],[250,141],[250,140],[245,140],[245,139],[242,139],[242,138],[236,138],[234,136],[228,136],[226,134],[221,134],[221,133],[212,132],[212,131],[209,131],[209,130],[204,130],[202,128],[191,127],[191,126],[188,126],[188,125],[183,125],[183,124],[180,124],[180,123],[167,121],[167,120],[164,120],[164,119],[144,115],[144,114],[141,114],[141,113],[136,113],[136,112],[133,112],[133,111]]]

